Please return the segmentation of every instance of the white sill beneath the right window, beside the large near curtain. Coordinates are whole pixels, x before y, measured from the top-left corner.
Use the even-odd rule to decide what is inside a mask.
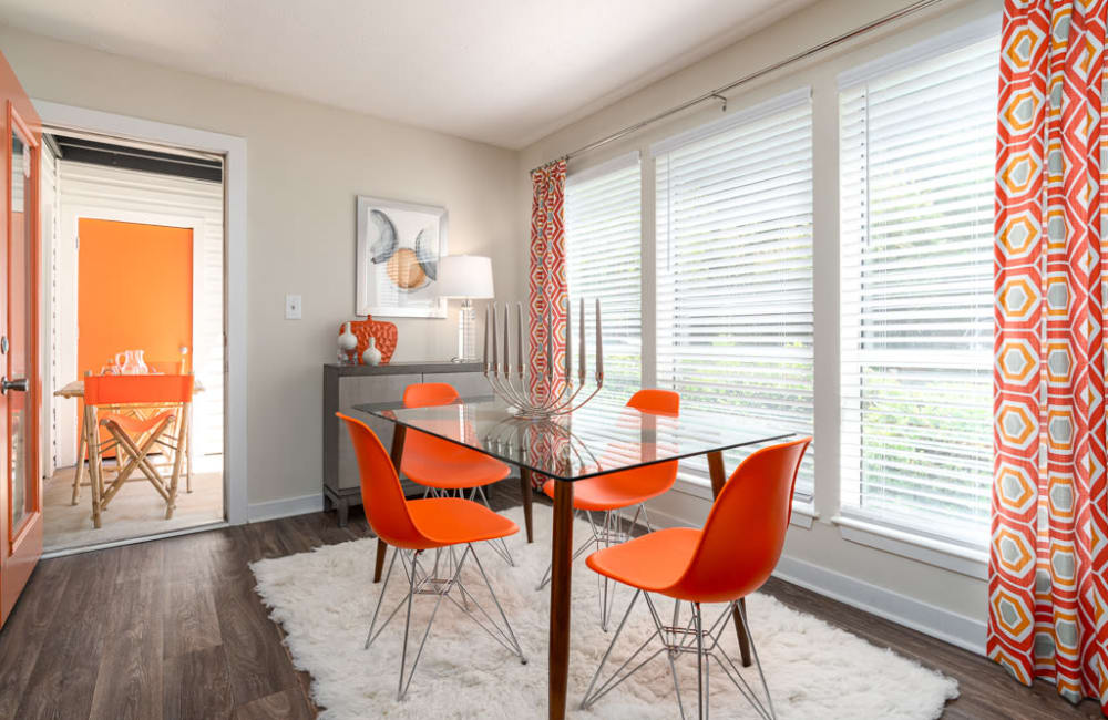
[[[831,522],[839,526],[842,538],[852,543],[909,557],[960,575],[988,579],[988,553],[984,549],[976,551],[856,517],[835,515]]]

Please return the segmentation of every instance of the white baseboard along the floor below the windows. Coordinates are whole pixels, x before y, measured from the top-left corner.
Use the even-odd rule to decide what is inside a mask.
[[[678,514],[683,510],[689,510],[687,505],[681,506],[681,501],[687,502],[688,498],[674,497],[674,495],[675,493],[670,492],[663,498],[652,501],[648,504],[655,527],[687,527],[693,524]],[[666,502],[659,503],[661,500]],[[666,510],[659,507],[659,504],[666,506]],[[796,516],[796,513],[793,515]],[[971,652],[985,655],[986,628],[982,620],[952,613],[907,595],[894,593],[788,555],[781,557],[773,575],[787,583],[799,585],[813,593],[912,628],[944,642],[950,642]]]

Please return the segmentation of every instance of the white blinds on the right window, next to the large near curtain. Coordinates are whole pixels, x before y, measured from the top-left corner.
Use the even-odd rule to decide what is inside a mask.
[[[974,545],[993,442],[999,50],[985,37],[852,71],[839,95],[842,512]]]

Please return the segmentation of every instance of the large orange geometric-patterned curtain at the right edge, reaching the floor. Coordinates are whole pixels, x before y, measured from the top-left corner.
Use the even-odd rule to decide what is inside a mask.
[[[1005,1],[987,648],[1108,707],[1105,11]]]

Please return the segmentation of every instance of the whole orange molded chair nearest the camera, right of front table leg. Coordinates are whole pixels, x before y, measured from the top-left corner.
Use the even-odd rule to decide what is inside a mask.
[[[709,658],[716,661],[759,716],[771,720],[777,718],[766,673],[762,672],[758,650],[750,637],[745,605],[739,600],[769,579],[781,557],[784,534],[792,515],[792,491],[797,484],[797,472],[811,441],[811,438],[803,438],[762,448],[747,456],[720,491],[708,513],[704,529],[660,529],[588,556],[588,567],[606,578],[635,588],[635,595],[619,621],[612,644],[601,658],[601,665],[582,700],[582,708],[591,707],[647,661],[665,652],[677,693],[677,707],[681,718],[685,718],[674,658],[680,654],[695,652],[697,710],[700,718],[708,717]],[[663,624],[650,593],[674,598],[671,625]],[[597,688],[596,681],[604,664],[619,639],[639,595],[646,598],[655,631]],[[684,625],[679,621],[681,603],[688,603],[693,609],[691,619]],[[707,627],[701,617],[702,603],[726,603],[719,619]],[[747,637],[750,638],[750,650],[766,695],[765,703],[724,651],[720,642],[724,630],[730,625],[728,617],[735,616],[741,618]],[[660,640],[660,647],[635,666],[635,669],[620,677],[620,671],[634,664],[654,638]]]

